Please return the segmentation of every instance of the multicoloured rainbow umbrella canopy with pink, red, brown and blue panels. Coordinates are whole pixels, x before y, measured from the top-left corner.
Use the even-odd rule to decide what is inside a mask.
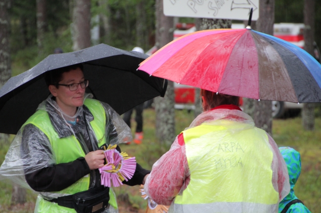
[[[139,70],[223,94],[321,102],[321,64],[289,42],[250,29],[187,34],[143,61]]]

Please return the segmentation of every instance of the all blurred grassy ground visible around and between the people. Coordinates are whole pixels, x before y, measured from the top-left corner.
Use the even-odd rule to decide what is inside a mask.
[[[194,114],[184,110],[177,110],[176,134],[189,126]],[[152,165],[168,148],[162,147],[155,139],[155,112],[153,109],[144,110],[144,139],[141,145],[120,145],[123,152],[136,156],[137,162],[144,168],[151,169]],[[134,134],[135,121],[132,115],[132,133]],[[286,119],[273,121],[273,138],[279,146],[290,146],[301,153],[302,172],[294,188],[296,196],[301,199],[311,212],[321,209],[321,118],[316,119],[315,131],[305,131],[301,126],[301,119]],[[0,146],[0,163],[8,145]],[[28,192],[28,203],[24,206],[10,206],[11,186],[0,182],[0,212],[1,213],[32,213],[36,195]],[[139,186],[121,186],[114,188],[117,195],[128,193],[133,208],[140,208],[144,213],[146,201],[140,197]],[[120,213],[128,212],[120,205]]]

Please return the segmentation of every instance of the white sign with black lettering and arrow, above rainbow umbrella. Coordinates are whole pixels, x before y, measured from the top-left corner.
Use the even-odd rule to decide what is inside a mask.
[[[259,18],[259,0],[163,0],[165,16],[248,20]]]

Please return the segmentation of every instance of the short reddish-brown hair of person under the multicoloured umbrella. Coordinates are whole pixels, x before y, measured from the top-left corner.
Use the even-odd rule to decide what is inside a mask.
[[[210,108],[214,108],[225,104],[234,104],[239,106],[240,97],[228,94],[221,94],[208,90],[201,89],[201,96],[203,96]]]

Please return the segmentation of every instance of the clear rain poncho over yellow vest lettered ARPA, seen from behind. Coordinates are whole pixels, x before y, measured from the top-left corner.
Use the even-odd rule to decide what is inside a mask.
[[[240,110],[214,109],[176,137],[144,189],[168,213],[272,213],[290,188],[272,137]]]

